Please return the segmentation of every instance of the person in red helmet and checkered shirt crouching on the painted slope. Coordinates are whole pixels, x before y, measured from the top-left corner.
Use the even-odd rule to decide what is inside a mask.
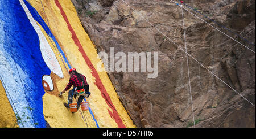
[[[61,97],[61,95],[65,93],[68,89],[70,89],[73,85],[74,88],[68,92],[68,104],[64,102],[64,106],[69,108],[69,104],[72,103],[73,97],[76,98],[78,95],[79,98],[77,99],[77,108],[79,108],[82,99],[84,99],[85,97],[89,97],[90,95],[89,85],[86,81],[86,77],[78,73],[75,68],[71,68],[69,70],[69,75],[71,77],[69,79],[68,85],[63,91],[60,92],[59,96]]]

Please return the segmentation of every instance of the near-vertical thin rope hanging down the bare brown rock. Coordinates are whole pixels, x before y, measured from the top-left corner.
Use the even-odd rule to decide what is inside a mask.
[[[188,67],[188,84],[189,84],[189,92],[190,92],[190,97],[191,97],[191,107],[192,107],[192,114],[193,114],[193,123],[194,123],[194,128],[195,128],[196,126],[195,126],[195,116],[194,116],[194,109],[193,109],[191,84],[190,84],[190,75],[189,75],[189,66],[188,66],[188,53],[187,53],[187,42],[186,42],[186,33],[185,33],[185,25],[184,25],[184,15],[183,15],[182,5],[180,5],[180,7],[181,7],[181,14],[182,14],[182,23],[183,23],[183,32],[184,32],[184,44],[185,44],[185,51],[186,51],[186,58],[187,58],[187,67]]]

